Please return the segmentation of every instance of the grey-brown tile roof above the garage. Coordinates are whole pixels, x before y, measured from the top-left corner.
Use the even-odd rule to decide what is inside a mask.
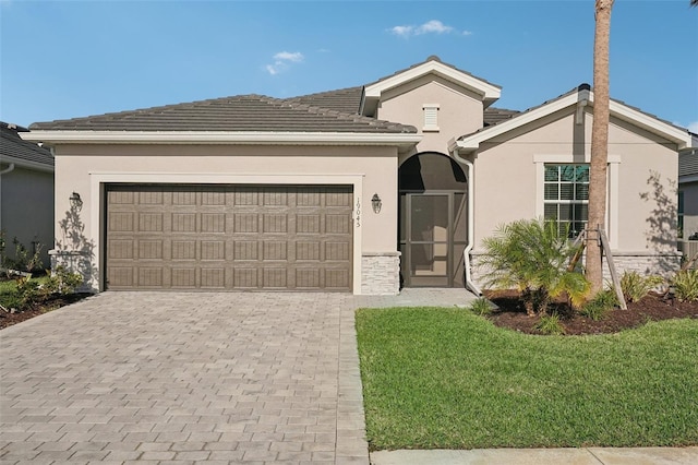
[[[278,99],[263,95],[238,95],[188,104],[168,105],[37,122],[32,130],[69,131],[277,131],[277,132],[357,132],[416,133],[411,126],[362,117],[304,102],[322,100],[341,107],[348,97],[324,93],[313,98]],[[348,98],[347,98],[348,99]]]

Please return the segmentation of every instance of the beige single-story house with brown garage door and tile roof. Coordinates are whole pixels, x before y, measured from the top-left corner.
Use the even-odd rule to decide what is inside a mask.
[[[82,254],[95,290],[477,289],[497,225],[587,220],[593,91],[522,112],[494,107],[501,91],[430,57],[357,87],[40,122],[23,138],[52,147],[57,223],[81,198],[81,243],[55,258]],[[611,103],[621,269],[677,264],[657,215],[676,222],[662,195],[689,145],[685,129]]]

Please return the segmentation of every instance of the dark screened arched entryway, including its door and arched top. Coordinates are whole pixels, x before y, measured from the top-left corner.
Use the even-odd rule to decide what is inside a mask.
[[[425,152],[399,168],[398,247],[405,287],[464,287],[467,179],[450,157]]]

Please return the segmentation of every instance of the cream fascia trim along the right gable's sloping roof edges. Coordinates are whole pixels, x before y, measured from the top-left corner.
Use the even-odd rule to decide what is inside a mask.
[[[502,119],[495,124],[484,127],[470,134],[461,135],[452,144],[449,150],[462,150],[466,152],[476,151],[480,146],[480,143],[484,141],[502,135],[573,105],[577,106],[577,108],[593,106],[593,91],[589,84],[581,84],[557,98],[544,102],[542,105],[513,115],[508,119]],[[611,99],[610,110],[611,115],[615,118],[628,121],[676,143],[679,150],[691,145],[690,132],[684,128],[674,126],[669,121],[661,120],[654,115],[647,114],[636,107],[631,107],[615,99]]]

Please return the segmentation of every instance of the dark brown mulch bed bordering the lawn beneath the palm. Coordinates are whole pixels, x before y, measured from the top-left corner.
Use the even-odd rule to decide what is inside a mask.
[[[534,329],[540,317],[528,317],[516,290],[485,291],[485,297],[500,309],[490,315],[495,325],[528,334],[541,334]],[[574,312],[564,301],[551,306],[556,311],[567,335],[616,333],[641,326],[648,321],[674,318],[698,319],[698,302],[664,301],[662,296],[650,294],[637,302],[628,303],[627,310],[611,310],[603,319],[593,321]]]

